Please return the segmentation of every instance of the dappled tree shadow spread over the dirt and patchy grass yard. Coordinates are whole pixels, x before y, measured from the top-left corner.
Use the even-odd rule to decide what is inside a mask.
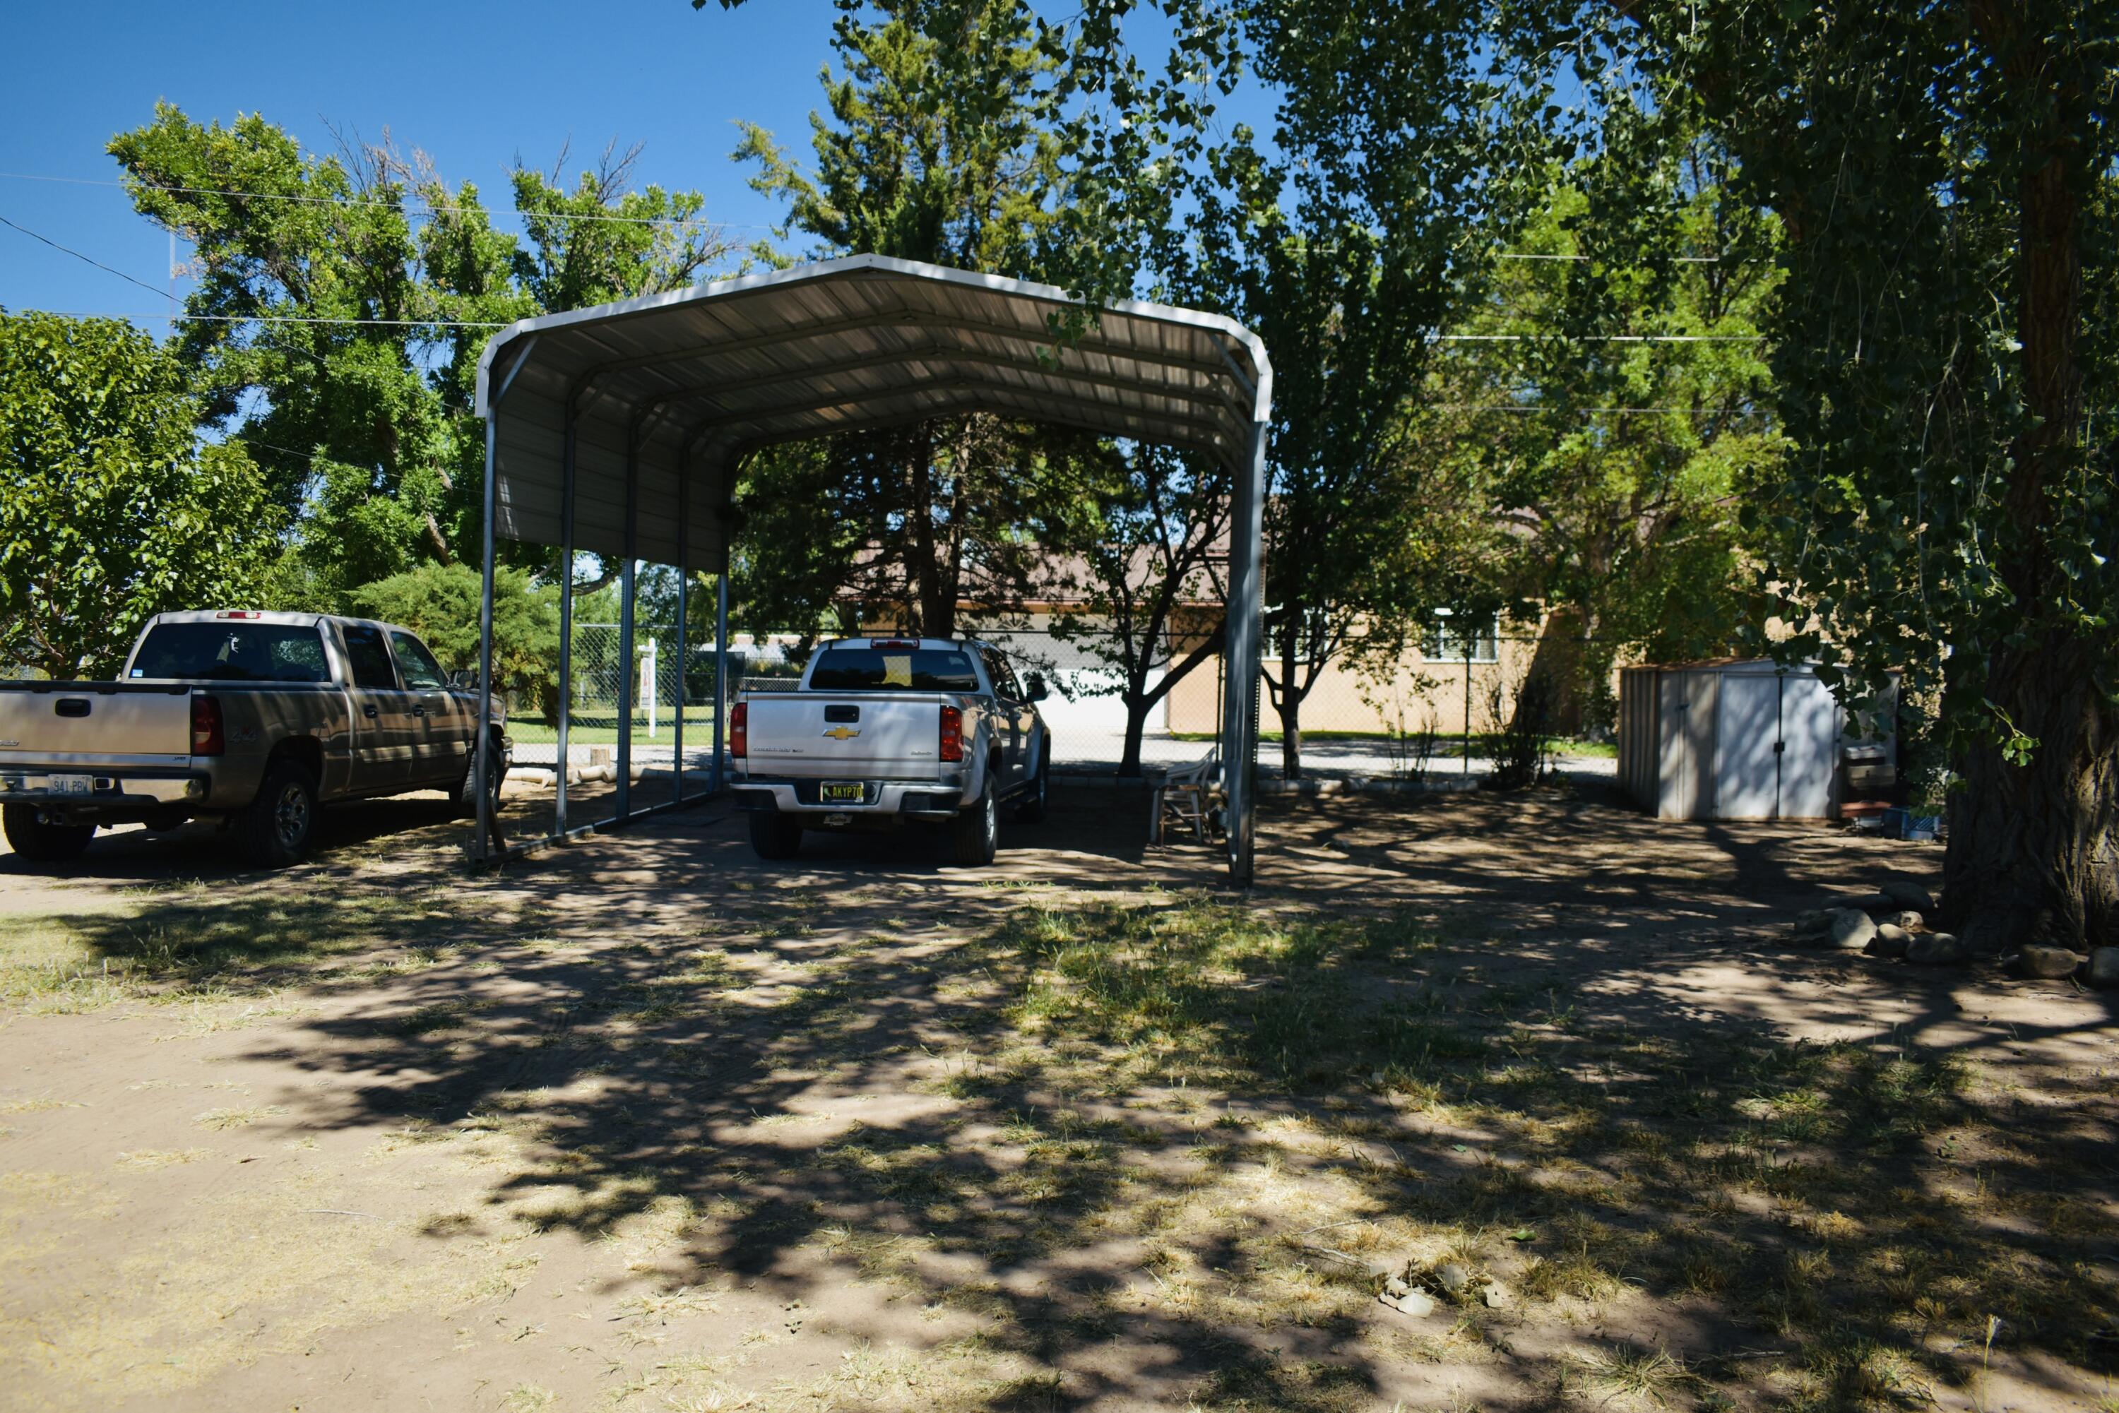
[[[1055,837],[1108,830],[1085,816]],[[1833,1044],[1786,1038],[1808,1002],[1771,981],[1666,985],[1799,962],[1759,915],[1820,886],[1808,835],[1557,794],[1282,811],[1237,905],[1210,856],[1170,890],[1047,849],[1062,894],[858,845],[763,873],[665,820],[390,915],[220,926],[426,938],[273,1057],[360,1076],[303,1089],[305,1127],[513,1140],[434,1241],[655,1218],[665,1292],[829,1303],[805,1339],[932,1356],[867,1407],[1892,1409],[1973,1390],[1990,1318],[1990,1362],[2055,1396],[2111,1354],[2108,1083],[1920,1044],[1949,1002],[1913,972],[1911,1027]],[[1511,826],[1572,833],[1500,873]],[[1375,1301],[1447,1263],[1471,1284],[1435,1316]]]

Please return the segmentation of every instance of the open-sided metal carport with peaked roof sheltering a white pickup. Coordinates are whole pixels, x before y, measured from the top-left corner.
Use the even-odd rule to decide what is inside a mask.
[[[714,646],[725,665],[729,504],[744,455],[759,447],[962,413],[1189,447],[1235,472],[1221,750],[1229,873],[1248,883],[1271,396],[1265,345],[1218,314],[1134,301],[1089,309],[1047,284],[873,254],[511,324],[487,343],[477,388],[485,419],[481,720],[502,536],[555,544],[566,566],[576,551],[623,559],[619,652],[627,667],[636,561],[678,566],[680,585],[693,572],[720,576]],[[559,597],[559,801],[545,839],[568,833],[572,595]],[[678,661],[682,619],[680,608]],[[621,722],[631,718],[629,676],[621,674]],[[725,672],[716,682],[725,708]],[[708,792],[720,788],[725,714],[714,714]],[[629,737],[619,731],[621,822],[636,813]],[[479,752],[483,780],[485,735]],[[684,803],[682,737],[676,763],[672,805]],[[481,860],[492,849],[483,790],[473,847]]]

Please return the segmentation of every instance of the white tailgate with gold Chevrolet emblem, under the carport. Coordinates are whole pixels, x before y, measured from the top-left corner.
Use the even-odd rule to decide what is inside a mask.
[[[937,693],[750,693],[750,769],[816,780],[932,780]]]

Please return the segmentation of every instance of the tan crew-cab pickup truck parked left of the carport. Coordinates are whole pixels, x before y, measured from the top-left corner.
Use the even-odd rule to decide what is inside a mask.
[[[148,621],[117,682],[0,680],[0,824],[30,862],[97,826],[218,818],[267,869],[301,858],[328,801],[473,794],[479,697],[411,629],[218,610]],[[492,790],[509,767],[498,703]]]

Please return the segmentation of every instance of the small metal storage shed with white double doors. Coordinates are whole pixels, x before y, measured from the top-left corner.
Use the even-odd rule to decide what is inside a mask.
[[[1856,737],[1812,665],[1723,659],[1619,674],[1619,784],[1659,820],[1833,818]]]

